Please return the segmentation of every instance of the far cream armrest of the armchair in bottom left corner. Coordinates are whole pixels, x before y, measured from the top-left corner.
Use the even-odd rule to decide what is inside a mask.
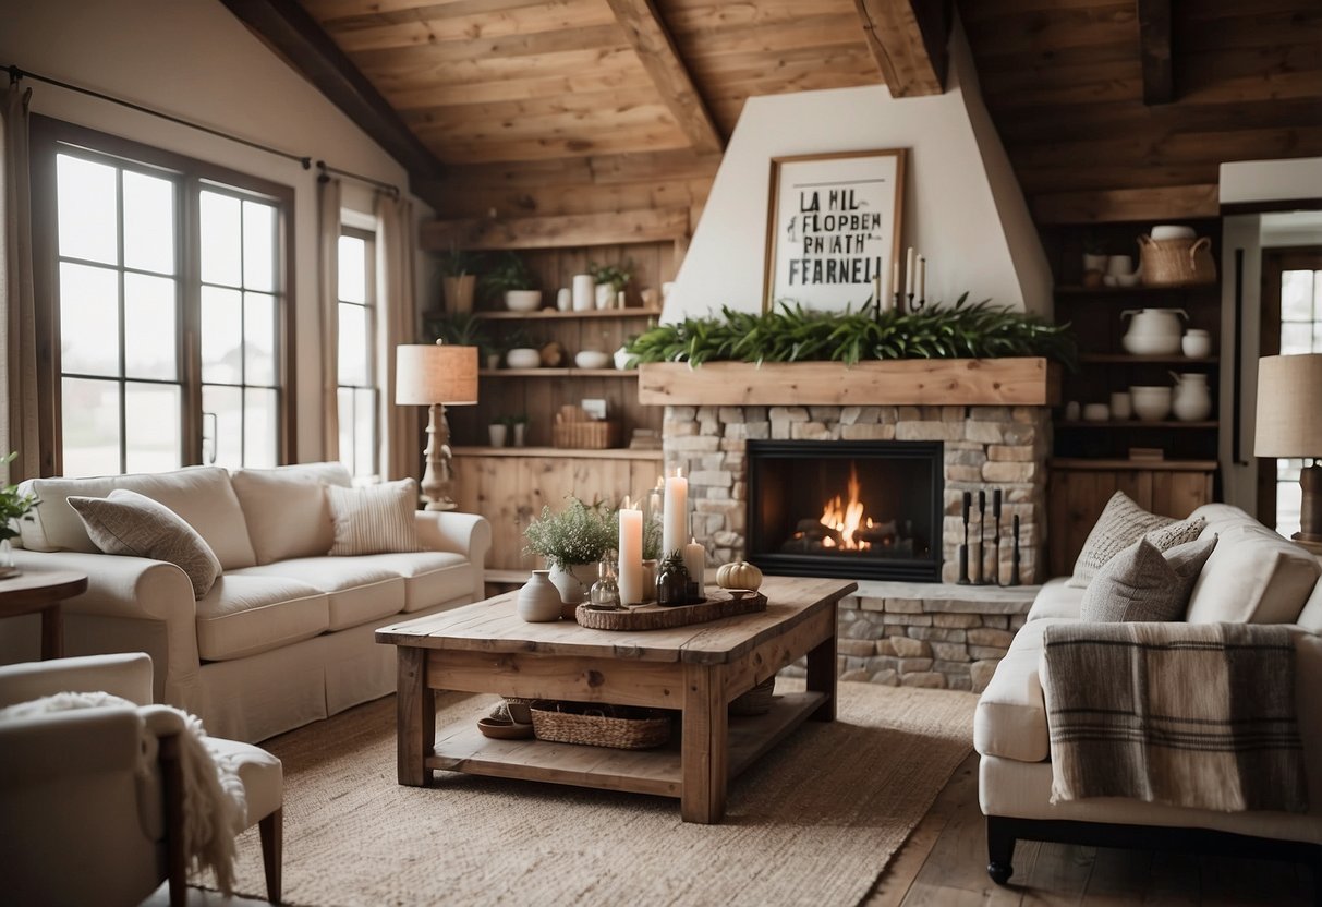
[[[110,693],[147,705],[152,701],[152,660],[145,652],[126,652],[0,668],[0,706],[66,691]]]

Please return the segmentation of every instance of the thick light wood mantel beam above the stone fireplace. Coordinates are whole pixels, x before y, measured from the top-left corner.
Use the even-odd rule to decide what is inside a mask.
[[[652,406],[1054,406],[1059,366],[1040,357],[884,362],[648,362]]]

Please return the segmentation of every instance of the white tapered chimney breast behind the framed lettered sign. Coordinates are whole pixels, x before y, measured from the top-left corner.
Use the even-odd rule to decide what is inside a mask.
[[[973,301],[1050,312],[1050,267],[960,29],[951,53],[951,87],[939,97],[895,99],[875,86],[750,98],[662,320],[761,311],[772,157],[879,148],[911,149],[902,245],[927,256],[929,300],[969,291]]]

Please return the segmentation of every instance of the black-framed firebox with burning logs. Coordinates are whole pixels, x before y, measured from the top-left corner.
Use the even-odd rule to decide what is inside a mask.
[[[747,456],[747,559],[763,571],[940,582],[940,442],[750,440]]]

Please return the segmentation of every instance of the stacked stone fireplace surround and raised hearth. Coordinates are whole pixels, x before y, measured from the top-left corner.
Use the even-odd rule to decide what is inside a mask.
[[[676,401],[674,393],[652,401],[668,403],[662,426],[665,468],[672,473],[681,467],[689,477],[693,532],[705,541],[709,558],[724,563],[744,555],[747,440],[939,440],[944,446],[945,479],[943,582],[861,582],[858,592],[841,603],[839,670],[846,680],[981,690],[1014,631],[1023,624],[1046,563],[1050,395],[1043,393],[1040,402],[1031,405],[816,403],[801,397],[821,399],[820,389],[804,394],[793,382],[785,382],[784,374],[775,390],[740,389],[754,403],[723,405],[719,393],[706,394],[711,401],[707,403]],[[644,375],[642,383],[646,387],[654,382]],[[761,402],[768,394],[780,402]],[[873,397],[886,394],[879,390]],[[956,390],[949,395],[957,401],[964,394]],[[1009,528],[1018,514],[1023,584],[958,586],[954,579],[964,538],[964,492],[973,493],[974,510],[977,492],[988,492],[990,533],[993,488],[1001,488],[1003,494],[999,575],[1003,580],[1010,575]],[[976,516],[970,520],[970,541],[974,533]],[[994,575],[993,559],[989,546],[984,561],[988,578]]]

